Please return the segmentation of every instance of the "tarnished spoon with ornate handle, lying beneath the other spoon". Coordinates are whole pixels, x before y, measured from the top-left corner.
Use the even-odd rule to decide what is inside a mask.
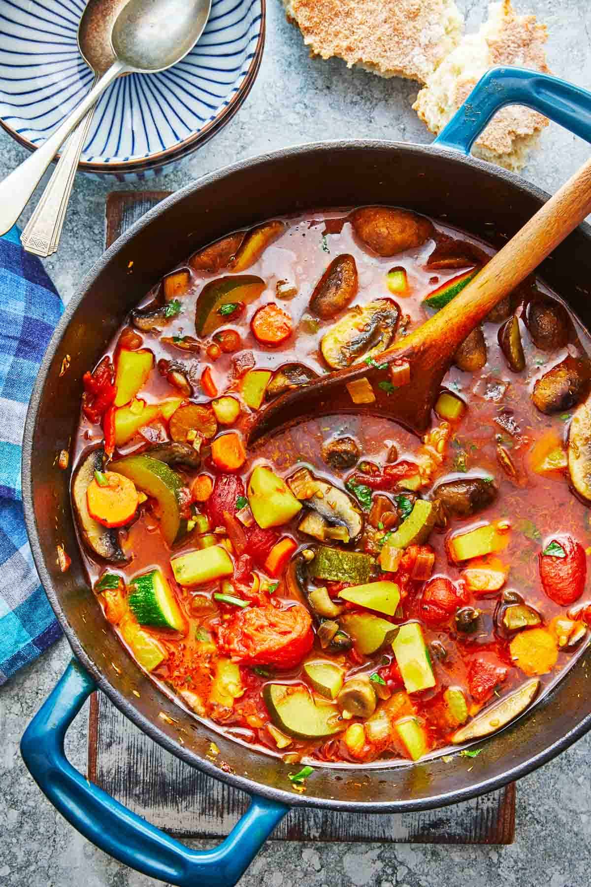
[[[95,75],[92,86],[113,65],[113,25],[127,3],[128,0],[89,0],[82,12],[78,26],[78,49]],[[46,257],[58,248],[74,187],[74,176],[94,113],[95,107],[90,108],[70,136],[41,200],[20,235],[20,242],[29,253]]]

